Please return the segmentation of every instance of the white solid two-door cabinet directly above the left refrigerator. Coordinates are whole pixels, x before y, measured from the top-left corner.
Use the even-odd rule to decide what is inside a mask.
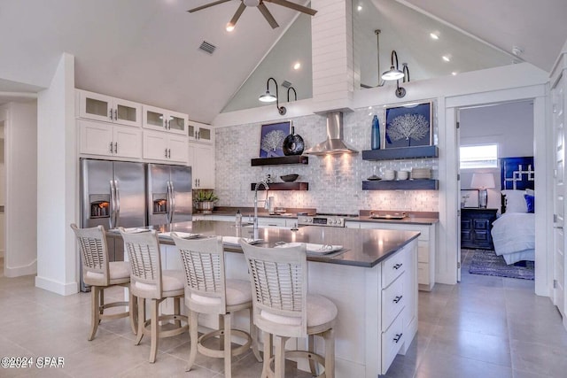
[[[120,126],[106,122],[77,120],[79,153],[116,158],[142,158],[140,127]]]

